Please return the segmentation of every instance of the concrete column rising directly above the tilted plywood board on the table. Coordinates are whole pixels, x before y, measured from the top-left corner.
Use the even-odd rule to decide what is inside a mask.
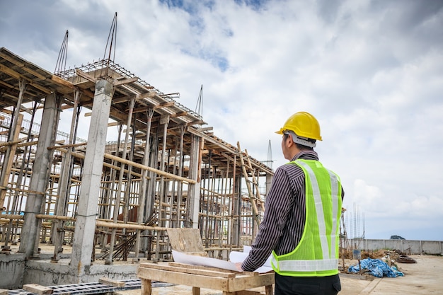
[[[191,140],[189,178],[195,180],[196,183],[188,185],[187,226],[192,227],[192,229],[198,229],[198,213],[200,211],[200,169],[202,164],[200,144],[203,141],[195,134],[191,135]]]

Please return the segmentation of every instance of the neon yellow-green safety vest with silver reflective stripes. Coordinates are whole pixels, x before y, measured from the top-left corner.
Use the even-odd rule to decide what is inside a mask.
[[[290,253],[272,251],[272,268],[284,276],[326,277],[338,274],[340,178],[318,161],[292,161],[305,175],[306,220],[301,240]]]

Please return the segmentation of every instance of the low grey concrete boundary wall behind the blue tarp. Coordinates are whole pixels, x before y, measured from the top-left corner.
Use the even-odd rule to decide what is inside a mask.
[[[350,244],[361,250],[401,250],[405,254],[443,255],[443,241],[413,240],[350,240]]]

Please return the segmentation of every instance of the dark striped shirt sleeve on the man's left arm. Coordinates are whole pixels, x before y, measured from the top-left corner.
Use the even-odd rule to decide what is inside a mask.
[[[241,268],[252,272],[262,266],[269,258],[282,236],[282,231],[292,207],[292,193],[289,176],[282,168],[277,168],[272,180],[271,189],[265,202],[265,216],[260,223],[251,252]]]

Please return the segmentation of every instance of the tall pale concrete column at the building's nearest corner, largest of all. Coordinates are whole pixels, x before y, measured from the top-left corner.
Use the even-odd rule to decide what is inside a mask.
[[[77,283],[81,282],[81,276],[88,274],[89,267],[91,267],[98,195],[100,194],[100,180],[112,97],[113,83],[98,80],[93,100],[72,245],[71,271],[74,273],[74,280]]]

